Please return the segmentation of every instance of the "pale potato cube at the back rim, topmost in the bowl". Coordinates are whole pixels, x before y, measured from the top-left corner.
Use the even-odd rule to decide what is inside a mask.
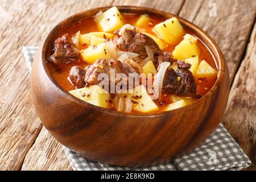
[[[123,18],[117,7],[106,10],[96,19],[98,27],[105,32],[113,32],[123,26]]]

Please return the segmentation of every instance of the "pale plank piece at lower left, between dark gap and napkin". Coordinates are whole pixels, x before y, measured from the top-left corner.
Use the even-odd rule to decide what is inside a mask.
[[[22,170],[72,170],[63,146],[43,127],[28,151]]]

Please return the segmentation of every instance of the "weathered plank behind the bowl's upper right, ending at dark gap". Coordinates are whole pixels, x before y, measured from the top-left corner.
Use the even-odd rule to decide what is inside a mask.
[[[254,0],[185,1],[180,16],[203,28],[220,46],[233,80],[256,13]]]

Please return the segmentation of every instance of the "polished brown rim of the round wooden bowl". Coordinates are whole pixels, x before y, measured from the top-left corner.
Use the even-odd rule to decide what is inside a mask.
[[[186,106],[174,109],[174,110],[170,110],[170,111],[160,111],[159,113],[123,113],[123,112],[116,111],[116,110],[113,110],[113,109],[106,109],[104,107],[92,105],[92,104],[89,104],[88,102],[82,101],[79,98],[77,98],[77,97],[73,96],[72,94],[70,94],[69,92],[67,92],[66,90],[64,90],[55,81],[55,79],[51,76],[51,74],[48,71],[47,64],[46,64],[46,56],[47,56],[46,46],[47,46],[47,44],[51,43],[50,40],[52,40],[52,38],[54,37],[53,33],[58,32],[57,30],[61,27],[61,25],[65,24],[66,22],[71,21],[72,19],[79,18],[79,16],[90,13],[90,11],[92,11],[92,12],[93,11],[101,11],[101,10],[109,9],[111,7],[113,7],[113,6],[96,7],[96,8],[93,8],[93,9],[88,9],[88,10],[76,13],[74,15],[71,15],[68,18],[65,18],[64,20],[62,20],[61,22],[56,24],[56,26],[52,28],[52,30],[48,33],[48,35],[44,39],[44,42],[42,44],[42,48],[40,49],[40,60],[39,61],[43,65],[44,72],[46,73],[49,80],[51,80],[51,82],[58,89],[60,89],[61,92],[63,92],[67,96],[67,98],[72,98],[73,101],[79,102],[80,104],[84,105],[85,107],[90,107],[91,109],[106,111],[110,114],[119,114],[119,115],[124,115],[126,117],[145,117],[145,116],[146,117],[157,117],[159,115],[172,114],[172,113],[176,113],[177,111],[189,109],[189,107],[192,107],[193,105],[200,103],[201,101],[203,101],[203,99],[205,97],[208,97],[210,94],[213,94],[217,90],[218,86],[221,84],[221,81],[223,80],[224,71],[225,71],[225,69],[228,69],[228,68],[225,67],[225,65],[226,65],[225,64],[225,59],[224,59],[223,53],[221,52],[221,49],[218,47],[217,43],[213,40],[213,38],[211,38],[207,34],[207,32],[205,32],[203,29],[196,26],[195,24],[189,22],[188,20],[186,20],[184,18],[181,18],[180,16],[174,15],[172,13],[168,13],[167,11],[152,9],[150,7],[143,7],[143,6],[123,6],[123,5],[117,5],[116,6],[121,13],[122,13],[122,11],[125,11],[125,10],[134,10],[134,11],[145,11],[144,14],[149,13],[149,14],[153,14],[153,15],[156,15],[156,16],[169,15],[169,16],[172,16],[172,17],[176,17],[183,26],[185,25],[186,27],[188,27],[189,30],[192,30],[192,32],[197,32],[197,34],[200,34],[199,38],[201,39],[201,42],[203,44],[205,44],[205,42],[207,42],[209,44],[209,46],[206,46],[206,45],[205,46],[208,49],[209,48],[212,49],[212,50],[209,50],[209,51],[210,51],[211,54],[213,54],[212,56],[214,57],[215,62],[217,62],[217,65],[216,65],[216,67],[218,69],[217,80],[215,81],[212,88],[208,91],[207,94],[205,94],[203,97],[199,98],[198,100],[194,101],[192,104],[189,104],[189,105],[186,105]],[[87,18],[89,18],[89,16]],[[204,42],[202,40],[203,38],[205,39]]]

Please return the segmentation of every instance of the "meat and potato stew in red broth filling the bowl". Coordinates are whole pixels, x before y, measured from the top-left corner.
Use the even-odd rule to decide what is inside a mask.
[[[90,104],[126,113],[177,109],[217,79],[214,57],[176,18],[99,12],[60,32],[48,52],[55,81]]]

